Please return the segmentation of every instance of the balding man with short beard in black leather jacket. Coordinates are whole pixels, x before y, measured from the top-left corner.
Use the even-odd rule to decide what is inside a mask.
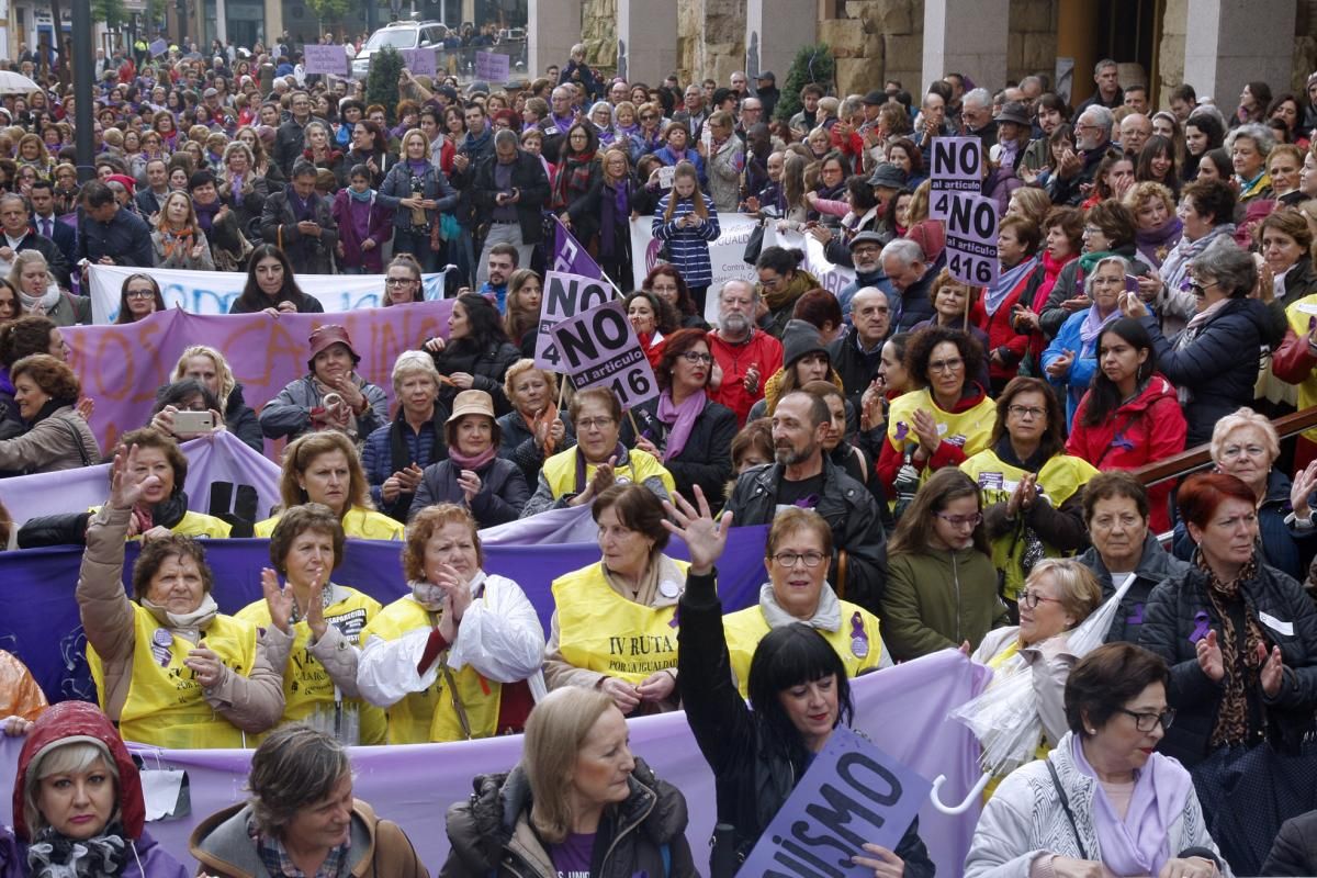
[[[820,398],[803,391],[782,396],[773,409],[776,461],[743,473],[724,511],[738,525],[770,524],[784,507],[818,512],[832,530],[828,581],[839,595],[876,613],[886,584],[886,534],[869,491],[823,454],[830,421]]]

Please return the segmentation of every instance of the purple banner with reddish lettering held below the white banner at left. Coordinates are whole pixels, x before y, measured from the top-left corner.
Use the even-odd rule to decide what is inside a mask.
[[[120,433],[150,421],[155,391],[169,383],[174,363],[190,345],[219,349],[242,384],[246,404],[259,411],[288,382],[308,373],[312,329],[340,324],[361,354],[357,373],[392,396],[394,359],[425,338],[446,337],[452,311],[452,299],[278,317],[194,315],[170,308],[134,324],[68,326],[63,336],[72,349],[70,363],[82,379],[83,395],[96,400],[92,430],[108,450]]]

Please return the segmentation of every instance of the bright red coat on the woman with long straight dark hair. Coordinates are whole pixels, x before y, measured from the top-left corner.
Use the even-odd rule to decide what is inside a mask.
[[[1075,409],[1065,450],[1081,457],[1100,470],[1135,470],[1146,463],[1164,461],[1184,450],[1188,425],[1175,387],[1162,375],[1152,375],[1143,392],[1115,409],[1097,426],[1084,425],[1084,412],[1092,391],[1084,394]],[[1148,519],[1156,533],[1171,529],[1167,502],[1172,482],[1148,488]]]

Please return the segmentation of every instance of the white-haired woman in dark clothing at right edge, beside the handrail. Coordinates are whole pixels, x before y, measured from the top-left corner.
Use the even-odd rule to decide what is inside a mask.
[[[1212,430],[1212,462],[1218,473],[1237,477],[1258,498],[1258,533],[1262,559],[1299,582],[1317,553],[1317,527],[1310,495],[1317,490],[1317,462],[1291,482],[1276,467],[1280,437],[1271,421],[1251,408],[1241,408],[1217,421]],[[1189,561],[1196,549],[1184,521],[1175,525],[1175,557]]]

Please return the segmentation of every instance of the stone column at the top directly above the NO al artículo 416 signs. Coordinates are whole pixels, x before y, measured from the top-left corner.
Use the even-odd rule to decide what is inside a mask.
[[[923,82],[948,72],[969,76],[976,86],[1006,83],[1010,0],[927,0],[923,7]],[[905,83],[910,88],[910,83]]]

